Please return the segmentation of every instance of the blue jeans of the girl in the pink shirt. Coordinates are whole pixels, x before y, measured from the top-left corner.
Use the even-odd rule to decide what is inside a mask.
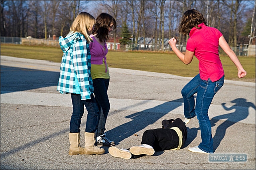
[[[223,85],[224,75],[218,81],[212,82],[210,79],[208,81],[202,80],[198,74],[181,90],[185,118],[191,119],[197,116],[202,139],[198,147],[207,153],[213,153],[213,137],[208,110],[214,95]],[[195,93],[197,93],[196,104]]]

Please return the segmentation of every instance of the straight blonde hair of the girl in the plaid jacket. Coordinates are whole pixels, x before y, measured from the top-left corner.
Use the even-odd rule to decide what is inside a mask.
[[[93,28],[96,19],[93,15],[87,12],[80,12],[73,21],[70,31],[79,32],[85,36],[87,42],[91,42],[91,37],[88,35],[88,30]]]

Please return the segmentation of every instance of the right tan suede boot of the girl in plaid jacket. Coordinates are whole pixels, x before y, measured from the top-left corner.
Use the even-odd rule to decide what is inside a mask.
[[[85,154],[100,155],[105,153],[103,148],[95,146],[95,133],[85,132]]]

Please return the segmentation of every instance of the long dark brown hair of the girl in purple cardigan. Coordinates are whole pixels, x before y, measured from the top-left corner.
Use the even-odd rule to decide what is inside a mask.
[[[108,27],[110,27],[110,24],[113,24],[113,30],[116,29],[116,20],[105,12],[101,13],[96,18],[93,34],[97,34],[96,37],[101,42],[108,39]]]

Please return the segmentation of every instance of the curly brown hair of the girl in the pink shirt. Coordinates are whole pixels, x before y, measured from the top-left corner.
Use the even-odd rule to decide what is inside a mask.
[[[195,9],[187,10],[182,16],[179,25],[179,33],[181,33],[182,35],[188,35],[193,27],[201,29],[201,27],[197,26],[201,23],[205,23],[205,25],[207,25],[207,22],[205,21],[205,18],[203,17],[203,14],[201,14],[201,12]]]

